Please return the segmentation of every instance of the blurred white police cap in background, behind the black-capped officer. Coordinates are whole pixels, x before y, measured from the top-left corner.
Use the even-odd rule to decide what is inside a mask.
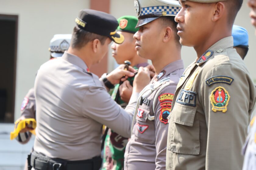
[[[69,49],[71,34],[55,34],[50,41],[49,51],[52,57],[61,57]]]

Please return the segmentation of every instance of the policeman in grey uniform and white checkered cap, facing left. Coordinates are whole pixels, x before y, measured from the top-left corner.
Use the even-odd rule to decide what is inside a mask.
[[[140,28],[133,36],[137,54],[152,61],[156,75],[140,93],[124,169],[165,170],[167,117],[184,71],[174,21],[180,4],[173,0],[136,0],[135,9]]]

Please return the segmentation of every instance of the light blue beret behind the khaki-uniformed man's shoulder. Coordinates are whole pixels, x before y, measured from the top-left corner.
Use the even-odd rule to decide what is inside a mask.
[[[232,36],[235,46],[248,46],[249,36],[245,28],[238,25],[233,25]]]

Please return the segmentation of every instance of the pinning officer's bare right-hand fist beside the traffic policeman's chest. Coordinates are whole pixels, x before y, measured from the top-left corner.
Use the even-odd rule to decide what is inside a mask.
[[[139,93],[150,82],[150,73],[147,67],[140,67],[133,81],[134,92]]]

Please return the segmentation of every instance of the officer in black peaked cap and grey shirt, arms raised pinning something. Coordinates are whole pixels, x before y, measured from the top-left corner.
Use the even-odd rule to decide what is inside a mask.
[[[123,36],[116,33],[117,20],[105,12],[85,9],[75,21],[67,52],[44,63],[35,80],[38,123],[30,158],[34,169],[99,169],[102,124],[130,137],[132,103],[150,81],[148,69],[141,67],[130,105],[123,110],[107,90],[123,76],[121,80],[134,76],[130,71],[135,70],[123,70],[121,65],[101,80],[89,70],[107,53],[111,41],[123,42]]]

